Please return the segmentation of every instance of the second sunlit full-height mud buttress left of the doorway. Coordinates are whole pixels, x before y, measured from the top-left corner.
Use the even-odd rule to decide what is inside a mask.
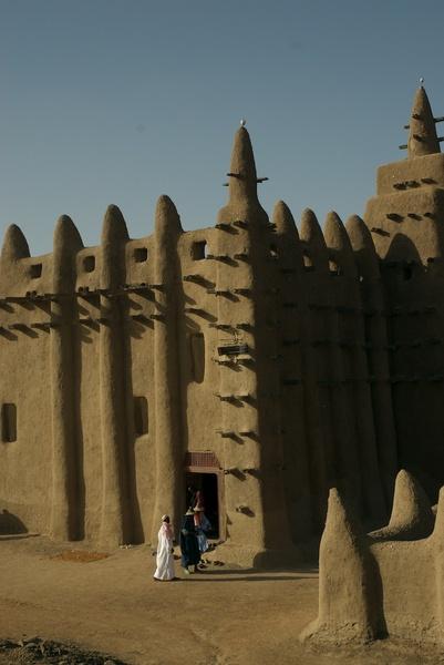
[[[122,283],[121,270],[127,239],[121,211],[114,205],[110,206],[102,229],[99,367],[103,474],[100,541],[111,546],[131,539],[122,321],[116,297]]]

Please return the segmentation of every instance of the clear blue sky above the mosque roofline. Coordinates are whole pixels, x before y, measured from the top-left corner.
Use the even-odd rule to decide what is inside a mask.
[[[443,25],[443,0],[0,0],[1,232],[50,252],[65,213],[94,245],[115,203],[140,237],[164,193],[213,225],[242,116],[269,213],[362,214],[420,75],[444,115]]]

